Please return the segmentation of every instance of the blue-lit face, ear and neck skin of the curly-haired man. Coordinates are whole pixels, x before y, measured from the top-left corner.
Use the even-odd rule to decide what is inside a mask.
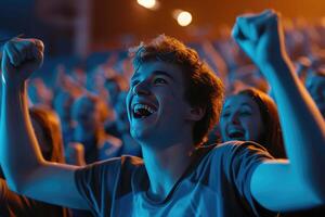
[[[155,112],[136,119],[132,107],[139,102]],[[185,101],[181,68],[157,61],[143,63],[134,73],[127,108],[131,136],[141,144],[150,179],[147,194],[162,199],[190,165],[195,149],[193,126],[204,112]]]

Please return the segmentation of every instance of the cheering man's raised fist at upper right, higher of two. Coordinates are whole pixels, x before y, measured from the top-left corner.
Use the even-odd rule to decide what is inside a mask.
[[[238,16],[233,28],[235,41],[260,68],[287,56],[283,35],[280,15],[272,10]]]

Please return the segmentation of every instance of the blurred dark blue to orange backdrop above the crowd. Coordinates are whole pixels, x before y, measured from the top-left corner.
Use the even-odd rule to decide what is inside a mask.
[[[126,48],[165,33],[185,42],[216,39],[238,14],[278,10],[284,17],[325,25],[324,0],[160,0],[156,11],[135,0],[1,0],[0,37],[25,34],[41,38],[50,55],[86,55]],[[187,10],[193,22],[181,27],[176,9]]]

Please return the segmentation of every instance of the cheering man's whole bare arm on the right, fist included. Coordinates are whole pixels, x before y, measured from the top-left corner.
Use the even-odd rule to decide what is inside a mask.
[[[288,161],[262,163],[251,193],[272,210],[292,210],[325,202],[325,123],[299,81],[285,51],[278,14],[265,11],[237,18],[233,37],[274,92]]]

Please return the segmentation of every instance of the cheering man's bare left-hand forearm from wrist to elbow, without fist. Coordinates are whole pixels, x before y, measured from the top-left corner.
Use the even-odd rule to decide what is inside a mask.
[[[29,120],[26,88],[2,88],[1,165],[14,190],[41,165],[42,156]]]

